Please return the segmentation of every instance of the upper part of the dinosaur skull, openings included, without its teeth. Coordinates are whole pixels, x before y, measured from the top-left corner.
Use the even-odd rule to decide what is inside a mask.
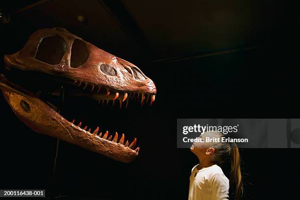
[[[53,38],[53,41],[47,40],[48,38]],[[51,54],[55,55],[50,56]],[[86,54],[85,57],[78,58],[79,66],[73,64],[75,61],[72,60],[76,60],[73,54],[77,57]],[[8,69],[13,67],[23,71],[62,76],[92,87],[145,95],[156,94],[155,84],[138,67],[61,28],[36,31],[30,36],[23,50],[5,55],[4,63]]]

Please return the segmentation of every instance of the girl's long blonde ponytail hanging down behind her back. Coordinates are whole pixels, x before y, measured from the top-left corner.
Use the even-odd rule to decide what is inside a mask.
[[[230,187],[235,186],[235,200],[239,200],[243,196],[243,182],[240,162],[239,149],[235,143],[232,143]]]

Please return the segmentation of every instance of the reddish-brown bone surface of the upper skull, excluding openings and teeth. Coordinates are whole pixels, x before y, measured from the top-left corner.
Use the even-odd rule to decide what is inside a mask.
[[[39,44],[44,38],[50,36],[59,36],[66,42],[66,51],[59,64],[50,65],[35,58]],[[75,65],[76,68],[72,68],[71,50],[75,39],[86,44],[89,55],[85,63],[80,66]],[[117,91],[156,94],[153,81],[135,65],[99,49],[64,28],[40,29],[34,32],[29,37],[25,47],[15,54],[5,55],[4,62],[7,69],[15,67],[25,71],[38,71]],[[112,67],[116,71],[116,75],[104,74],[100,70],[101,64]],[[145,77],[145,80],[134,78],[134,71],[139,71]]]

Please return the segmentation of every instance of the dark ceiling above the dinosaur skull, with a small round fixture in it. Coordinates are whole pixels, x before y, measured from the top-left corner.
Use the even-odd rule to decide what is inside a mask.
[[[103,50],[145,63],[274,43],[291,12],[285,6],[274,0],[11,0],[2,6],[11,21],[1,28],[6,40],[15,36],[24,45],[39,28],[65,27]]]

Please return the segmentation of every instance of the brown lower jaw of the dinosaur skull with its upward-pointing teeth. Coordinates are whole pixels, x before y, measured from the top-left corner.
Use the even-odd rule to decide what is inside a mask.
[[[75,125],[74,121],[69,122],[49,104],[34,97],[30,92],[26,90],[21,92],[13,88],[16,85],[7,80],[3,81],[3,78],[0,80],[0,89],[11,109],[25,125],[34,131],[59,138],[121,162],[128,163],[137,157],[139,148],[134,149],[136,139],[129,145],[128,141],[125,142],[124,134],[119,139],[118,133],[114,137],[109,136],[108,131],[98,134],[98,127],[95,131],[86,130],[86,127],[81,128],[81,123]],[[17,86],[17,88],[21,87]]]

